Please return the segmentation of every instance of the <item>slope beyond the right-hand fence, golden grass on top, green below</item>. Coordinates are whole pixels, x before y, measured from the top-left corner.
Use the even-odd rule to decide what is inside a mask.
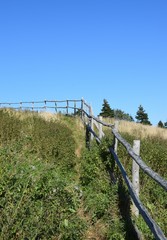
[[[140,155],[155,172],[167,179],[167,130],[133,122],[120,121],[118,131],[133,145],[133,140],[141,140]],[[118,156],[131,178],[132,159],[119,144]],[[125,187],[126,189],[126,187]],[[167,192],[140,170],[140,199],[153,219],[167,235]],[[134,218],[134,217],[133,217]],[[154,239],[141,217],[136,219],[145,239]]]

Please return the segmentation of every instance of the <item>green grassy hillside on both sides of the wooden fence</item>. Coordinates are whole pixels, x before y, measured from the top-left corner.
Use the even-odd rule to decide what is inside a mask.
[[[125,129],[120,124],[131,143],[137,130]],[[164,139],[143,136],[141,154],[167,177]],[[0,110],[0,239],[137,239],[131,201],[117,168],[117,183],[110,178],[110,133],[100,147],[93,141],[87,149],[85,140],[79,117]],[[119,156],[130,173],[121,147]],[[141,198],[165,234],[166,197],[142,175]],[[142,219],[135,221],[145,239],[154,239]]]

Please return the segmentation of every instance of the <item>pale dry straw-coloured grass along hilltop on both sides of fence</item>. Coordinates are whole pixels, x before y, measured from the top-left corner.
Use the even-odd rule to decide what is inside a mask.
[[[5,111],[8,113],[17,116],[19,119],[25,119],[29,117],[30,115],[32,116],[33,114],[36,114],[31,111],[27,111],[26,114],[24,114],[24,111],[13,111],[13,109],[7,108]],[[64,124],[68,125],[73,131],[75,138],[79,138],[82,142],[81,145],[83,145],[83,139],[84,139],[84,127],[83,124],[80,120],[79,117],[75,117],[75,123],[72,124],[72,121],[66,121],[66,116],[63,114],[59,113],[51,113],[51,112],[39,112],[39,116],[44,118],[46,121],[62,121]],[[103,118],[104,122],[114,124],[114,119],[112,118]],[[167,140],[167,129],[162,129],[159,127],[155,126],[148,126],[148,125],[143,125],[135,122],[128,122],[124,120],[119,121],[119,127],[118,131],[124,132],[124,133],[129,133],[133,136],[135,136],[138,139],[143,139],[147,137],[156,137],[156,138],[161,138],[163,140]],[[78,146],[77,149],[77,155],[80,155],[82,146]]]

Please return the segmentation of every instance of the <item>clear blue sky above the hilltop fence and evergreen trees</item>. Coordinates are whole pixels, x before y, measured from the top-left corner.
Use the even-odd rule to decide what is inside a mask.
[[[166,0],[0,1],[0,102],[82,97],[167,121]]]

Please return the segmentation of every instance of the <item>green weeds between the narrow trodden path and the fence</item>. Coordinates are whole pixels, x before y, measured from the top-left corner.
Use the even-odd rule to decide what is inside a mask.
[[[100,146],[91,143],[81,161],[83,207],[90,226],[85,239],[135,240],[137,236],[130,215],[124,214],[130,207],[129,196],[126,192],[127,199],[122,198],[125,189],[120,173],[118,181],[112,176],[115,164],[108,151],[110,143],[108,137]]]

